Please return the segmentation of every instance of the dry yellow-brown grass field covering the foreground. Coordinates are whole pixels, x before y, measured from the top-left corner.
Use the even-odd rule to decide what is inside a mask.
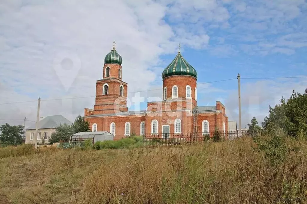
[[[0,149],[0,203],[307,203],[307,142]]]

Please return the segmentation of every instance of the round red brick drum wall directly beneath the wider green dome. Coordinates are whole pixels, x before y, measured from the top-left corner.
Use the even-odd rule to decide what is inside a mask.
[[[166,77],[163,80],[163,89],[166,87],[166,98],[172,98],[172,89],[173,86],[177,85],[178,87],[178,97],[185,98],[185,88],[186,85],[191,86],[191,96],[192,96],[192,104],[193,108],[196,106],[195,100],[195,87],[196,87],[196,78],[191,76],[170,76]],[[163,98],[162,98],[163,100]]]

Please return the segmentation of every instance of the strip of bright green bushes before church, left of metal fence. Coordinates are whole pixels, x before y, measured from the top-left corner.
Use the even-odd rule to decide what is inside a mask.
[[[136,148],[142,146],[143,138],[141,136],[134,136],[129,138],[122,138],[120,140],[105,140],[98,141],[94,144],[94,149],[126,149]]]

